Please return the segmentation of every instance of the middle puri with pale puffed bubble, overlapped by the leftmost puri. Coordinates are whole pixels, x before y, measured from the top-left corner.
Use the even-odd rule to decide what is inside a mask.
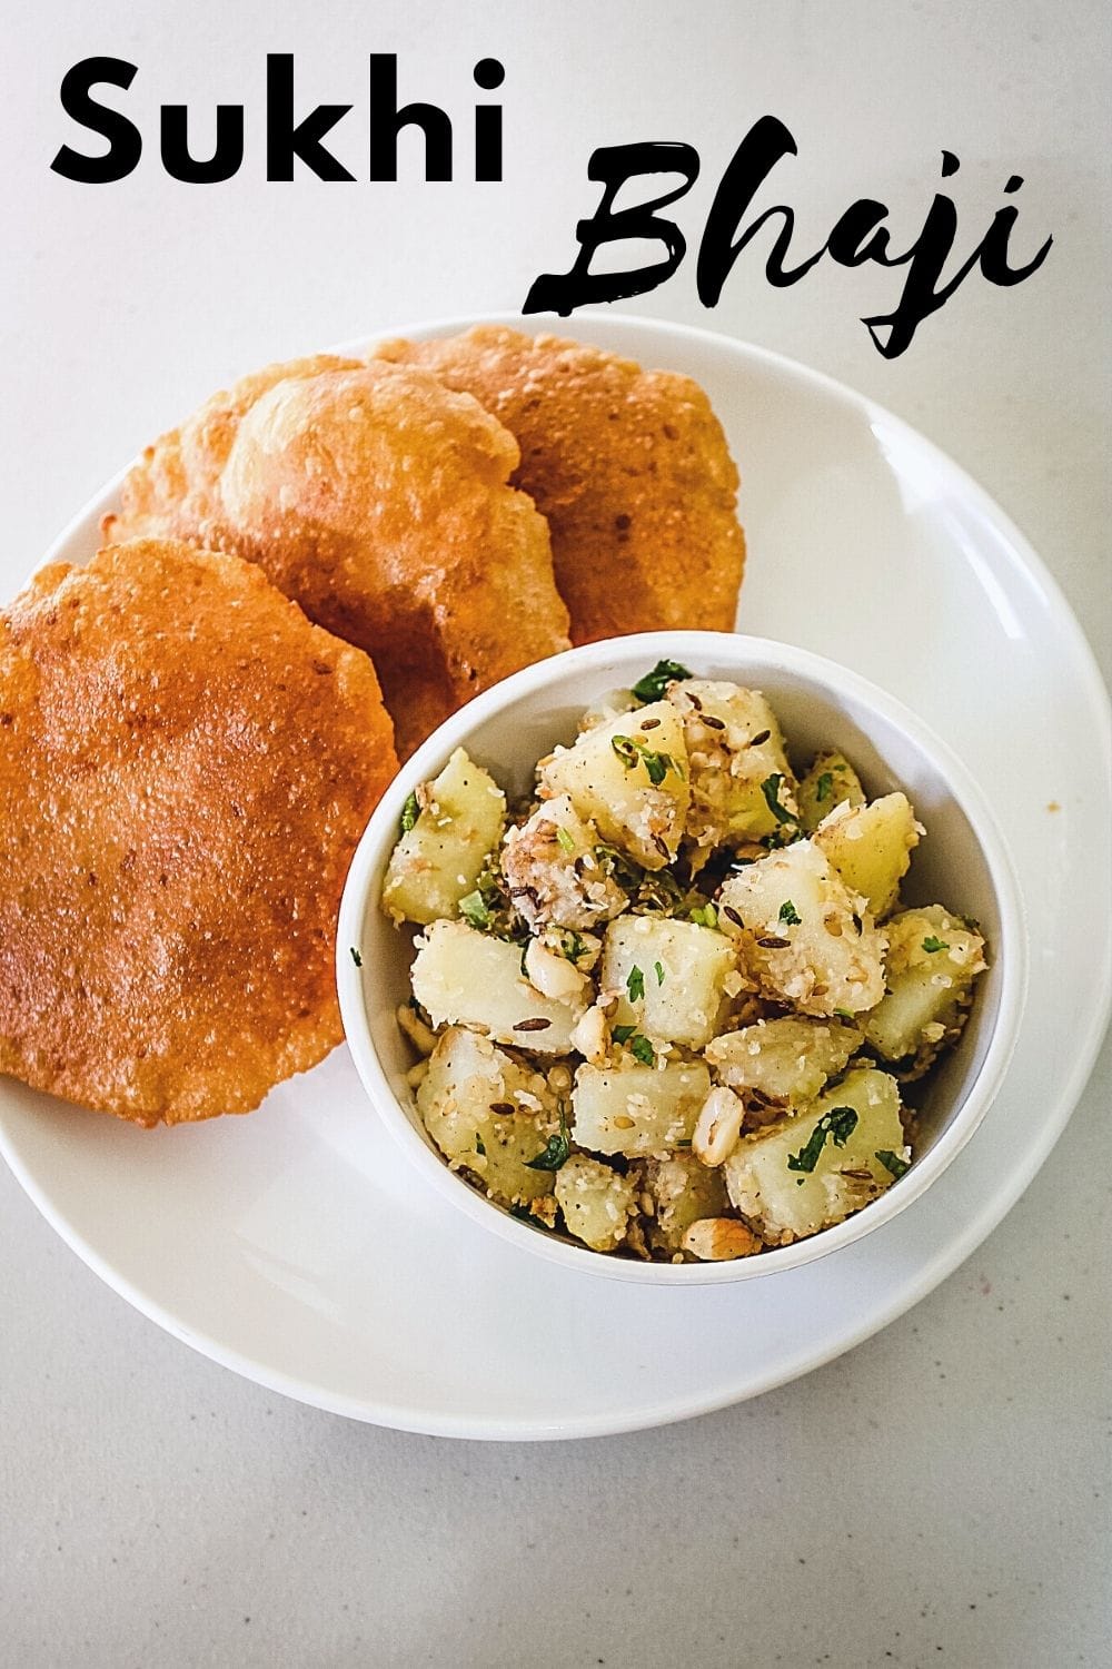
[[[150,447],[107,531],[258,562],[368,651],[405,758],[463,701],[569,648],[513,436],[417,367],[275,366]]]

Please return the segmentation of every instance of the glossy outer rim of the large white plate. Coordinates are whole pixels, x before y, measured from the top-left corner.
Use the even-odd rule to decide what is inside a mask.
[[[972,474],[969,474],[962,464],[950,457],[949,452],[945,452],[904,417],[879,404],[870,396],[860,394],[850,384],[845,384],[827,372],[815,371],[814,367],[774,349],[745,342],[740,337],[725,335],[724,332],[710,330],[700,325],[689,325],[640,314],[604,314],[599,310],[585,310],[577,314],[574,320],[559,319],[548,314],[528,317],[518,317],[505,312],[445,315],[432,320],[427,319],[375,330],[348,342],[342,342],[325,352],[365,354],[377,342],[388,337],[410,335],[417,339],[428,339],[470,329],[477,324],[502,324],[523,330],[530,335],[550,330],[572,330],[577,324],[587,329],[599,327],[607,332],[612,332],[617,327],[619,334],[624,330],[649,334],[660,337],[662,340],[667,339],[670,344],[690,340],[692,344],[699,344],[710,352],[725,350],[727,354],[739,354],[742,359],[757,361],[765,369],[777,372],[780,377],[787,376],[804,386],[820,391],[827,397],[849,404],[850,407],[864,412],[869,419],[884,421],[884,424],[889,426],[889,429],[892,429],[905,444],[919,447],[920,451],[925,449],[925,456],[930,462],[955,479],[970,502],[975,504],[985,519],[1002,534],[1004,541],[1010,547],[1009,566],[1025,574],[1027,579],[1034,581],[1042,592],[1044,604],[1067,639],[1065,649],[1077,674],[1082,678],[1084,694],[1087,704],[1090,706],[1092,718],[1099,721],[1099,736],[1095,741],[1104,743],[1105,758],[1109,756],[1112,744],[1112,703],[1092,646],[1089,644],[1080,621],[1074,614],[1074,609],[1070,608],[1059,581],[1049,571],[1027,536],[1020,531],[1007,511],[1004,511],[1002,506],[989,494],[989,491]],[[52,541],[38,566],[58,561],[65,547],[78,537],[90,522],[93,526],[98,522],[100,514],[110,507],[113,494],[118,492],[120,482],[132,467],[132,462],[125,464],[108,481],[105,481],[103,486],[82,506],[82,509],[70,517],[58,536]],[[944,741],[945,739],[947,738],[944,738]],[[1109,950],[1107,936],[1105,950]],[[538,1420],[535,1417],[507,1419],[503,1415],[480,1419],[472,1414],[452,1415],[443,1412],[433,1417],[427,1409],[373,1402],[367,1397],[333,1395],[327,1390],[322,1392],[320,1387],[312,1385],[303,1379],[292,1374],[275,1372],[267,1364],[258,1362],[243,1352],[227,1349],[218,1340],[195,1334],[165,1305],[148,1298],[130,1278],[122,1277],[117,1270],[113,1270],[108,1260],[93,1245],[90,1245],[87,1238],[62,1217],[60,1212],[55,1210],[50,1197],[30,1175],[20,1153],[13,1148],[3,1112],[5,1095],[2,1082],[0,1153],[3,1153],[8,1168],[43,1218],[82,1258],[82,1262],[105,1282],[107,1287],[130,1303],[132,1308],[138,1310],[140,1315],[162,1327],[163,1332],[168,1332],[173,1339],[197,1350],[200,1355],[205,1355],[208,1360],[217,1362],[240,1377],[265,1387],[267,1390],[290,1397],[292,1400],[302,1402],[308,1407],[322,1409],[328,1414],[362,1420],[365,1424],[385,1425],[395,1430],[420,1432],[435,1437],[495,1442],[543,1442],[574,1437],[619,1435],[634,1430],[654,1429],[657,1425],[675,1424],[694,1419],[700,1414],[714,1414],[720,1409],[732,1407],[737,1402],[764,1395],[764,1392],[774,1390],[779,1385],[790,1384],[794,1379],[800,1379],[804,1374],[837,1360],[845,1352],[874,1337],[874,1334],[880,1332],[899,1315],[904,1315],[937,1285],[940,1285],[942,1280],[960,1268],[960,1265],[977,1250],[979,1245],[982,1245],[992,1230],[999,1227],[1042,1168],[1059,1137],[1065,1130],[1065,1125],[1069,1123],[1069,1118],[1072,1117],[1077,1102],[1092,1077],[1092,1070],[1109,1026],[1109,1015],[1112,1013],[1112,953],[1104,956],[1100,978],[1094,981],[1090,990],[1092,1005],[1085,1018],[1085,1031],[1084,1036],[1077,1038],[1077,1043],[1072,1048],[1070,1070],[1065,1073],[1062,1087],[1052,1103],[1052,1117],[1044,1120],[1034,1138],[1024,1147],[1019,1163],[1015,1163],[1005,1177],[1005,1187],[997,1188],[990,1197],[987,1197],[982,1202],[982,1208],[965,1222],[959,1233],[947,1235],[942,1245],[935,1250],[934,1257],[920,1262],[915,1268],[914,1278],[905,1280],[904,1285],[892,1293],[889,1302],[870,1305],[869,1314],[862,1317],[860,1324],[849,1330],[842,1330],[837,1342],[822,1347],[819,1352],[815,1352],[814,1347],[802,1349],[792,1357],[790,1362],[780,1364],[775,1370],[750,1377],[740,1390],[730,1389],[717,1390],[714,1394],[694,1392],[687,1397],[670,1397],[652,1405],[640,1404],[625,1414],[610,1410],[553,1420]],[[820,1268],[822,1260],[812,1267]],[[617,1283],[612,1285],[615,1290],[620,1290]],[[745,1290],[745,1285],[752,1283],[740,1283],[737,1288],[725,1290]]]

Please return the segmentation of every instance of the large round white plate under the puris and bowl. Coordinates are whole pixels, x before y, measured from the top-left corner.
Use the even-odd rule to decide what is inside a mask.
[[[785,359],[642,319],[575,317],[567,334],[709,391],[744,471],[745,629],[857,668],[979,776],[1024,891],[1032,1018],[977,1137],[922,1200],[834,1258],[694,1290],[585,1280],[448,1210],[378,1125],[347,1050],[248,1118],[178,1130],[0,1082],[8,1163],[145,1315],[273,1390],[453,1437],[679,1420],[867,1339],[1019,1198],[1109,1010],[1107,696],[1017,529],[905,424]],[[92,554],[113,494],[53,559]]]

